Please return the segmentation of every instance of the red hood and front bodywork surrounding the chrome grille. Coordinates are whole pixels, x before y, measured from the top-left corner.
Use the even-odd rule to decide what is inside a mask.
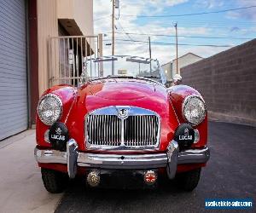
[[[156,112],[160,116],[160,147],[150,151],[166,150],[178,125],[167,89],[160,83],[137,78],[94,80],[78,89],[76,101],[66,124],[70,130],[70,136],[79,141],[80,150],[86,150],[83,135],[86,114],[103,107],[113,106],[140,107]]]

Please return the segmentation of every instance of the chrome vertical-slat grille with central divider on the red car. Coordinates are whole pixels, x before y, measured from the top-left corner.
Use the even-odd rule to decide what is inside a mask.
[[[131,115],[94,115],[86,118],[86,138],[90,145],[119,147],[154,147],[159,140],[159,117]]]

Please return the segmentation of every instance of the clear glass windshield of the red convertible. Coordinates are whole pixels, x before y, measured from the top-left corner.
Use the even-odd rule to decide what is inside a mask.
[[[85,78],[95,79],[110,76],[143,77],[166,83],[158,60],[119,55],[87,58],[84,61],[82,81],[85,81]]]

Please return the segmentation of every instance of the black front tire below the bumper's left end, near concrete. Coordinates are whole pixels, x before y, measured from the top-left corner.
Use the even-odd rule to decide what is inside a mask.
[[[68,176],[60,171],[41,169],[44,187],[49,193],[62,193],[67,187]]]

